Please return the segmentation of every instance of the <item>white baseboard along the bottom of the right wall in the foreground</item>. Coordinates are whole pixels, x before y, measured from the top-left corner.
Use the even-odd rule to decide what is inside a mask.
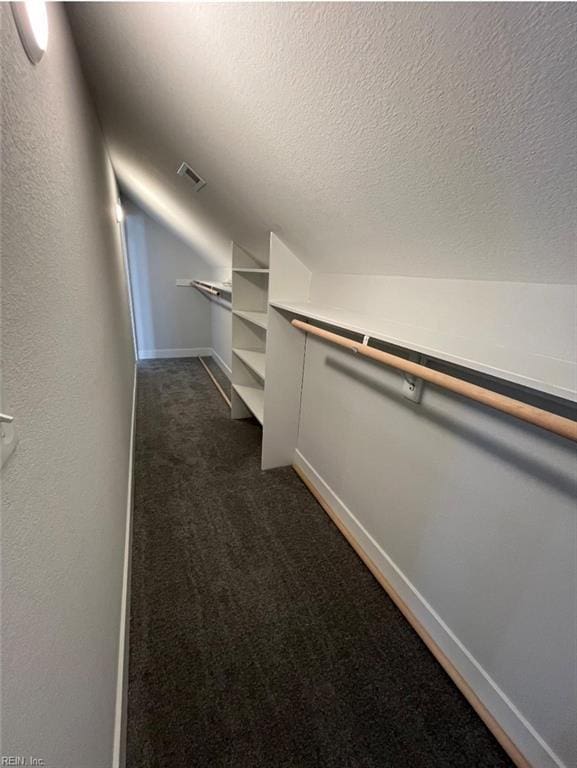
[[[295,451],[294,463],[317,488],[343,526],[350,531],[529,763],[535,768],[568,768],[298,450]]]

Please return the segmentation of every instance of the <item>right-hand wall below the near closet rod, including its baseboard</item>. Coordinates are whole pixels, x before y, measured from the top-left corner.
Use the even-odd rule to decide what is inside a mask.
[[[573,766],[575,448],[400,391],[394,371],[309,337],[297,463],[533,765]]]

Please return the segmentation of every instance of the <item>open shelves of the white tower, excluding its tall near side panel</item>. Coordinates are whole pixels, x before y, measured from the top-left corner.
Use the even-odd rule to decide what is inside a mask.
[[[265,358],[268,317],[266,263],[238,245],[232,251],[232,403],[233,419],[254,416],[264,423]]]

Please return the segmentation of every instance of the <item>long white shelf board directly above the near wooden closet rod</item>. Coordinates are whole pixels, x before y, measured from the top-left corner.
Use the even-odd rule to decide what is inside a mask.
[[[577,401],[577,363],[519,348],[496,346],[458,334],[375,318],[309,302],[271,302],[272,307],[373,339],[446,360],[565,400]]]

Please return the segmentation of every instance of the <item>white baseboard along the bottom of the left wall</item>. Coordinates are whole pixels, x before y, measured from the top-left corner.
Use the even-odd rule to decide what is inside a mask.
[[[124,532],[124,565],[122,573],[122,597],[120,602],[120,633],[118,639],[118,665],[116,673],[116,706],[114,713],[114,742],[112,768],[124,768],[126,712],[128,704],[128,629],[130,623],[130,552],[132,548],[132,500],[134,488],[134,435],[136,425],[136,373],[132,385],[132,415],[130,445],[128,449],[128,493],[126,499],[126,527]]]

